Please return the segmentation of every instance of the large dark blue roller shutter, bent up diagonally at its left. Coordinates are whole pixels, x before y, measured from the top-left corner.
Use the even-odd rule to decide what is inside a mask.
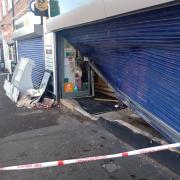
[[[113,87],[180,139],[180,5],[61,33],[95,62]],[[156,128],[173,139],[171,130]]]

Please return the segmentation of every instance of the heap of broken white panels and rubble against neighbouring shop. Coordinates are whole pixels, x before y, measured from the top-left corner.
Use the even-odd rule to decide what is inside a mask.
[[[55,103],[54,99],[45,98],[51,71],[45,70],[39,88],[34,89],[31,77],[33,67],[34,64],[28,58],[24,58],[18,63],[14,73],[8,74],[4,81],[6,95],[17,103],[17,107],[31,109],[59,107],[59,103]]]

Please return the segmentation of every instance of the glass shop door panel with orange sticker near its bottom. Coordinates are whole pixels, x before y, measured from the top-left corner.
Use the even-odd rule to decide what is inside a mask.
[[[88,60],[64,39],[62,98],[87,97],[91,94]]]

